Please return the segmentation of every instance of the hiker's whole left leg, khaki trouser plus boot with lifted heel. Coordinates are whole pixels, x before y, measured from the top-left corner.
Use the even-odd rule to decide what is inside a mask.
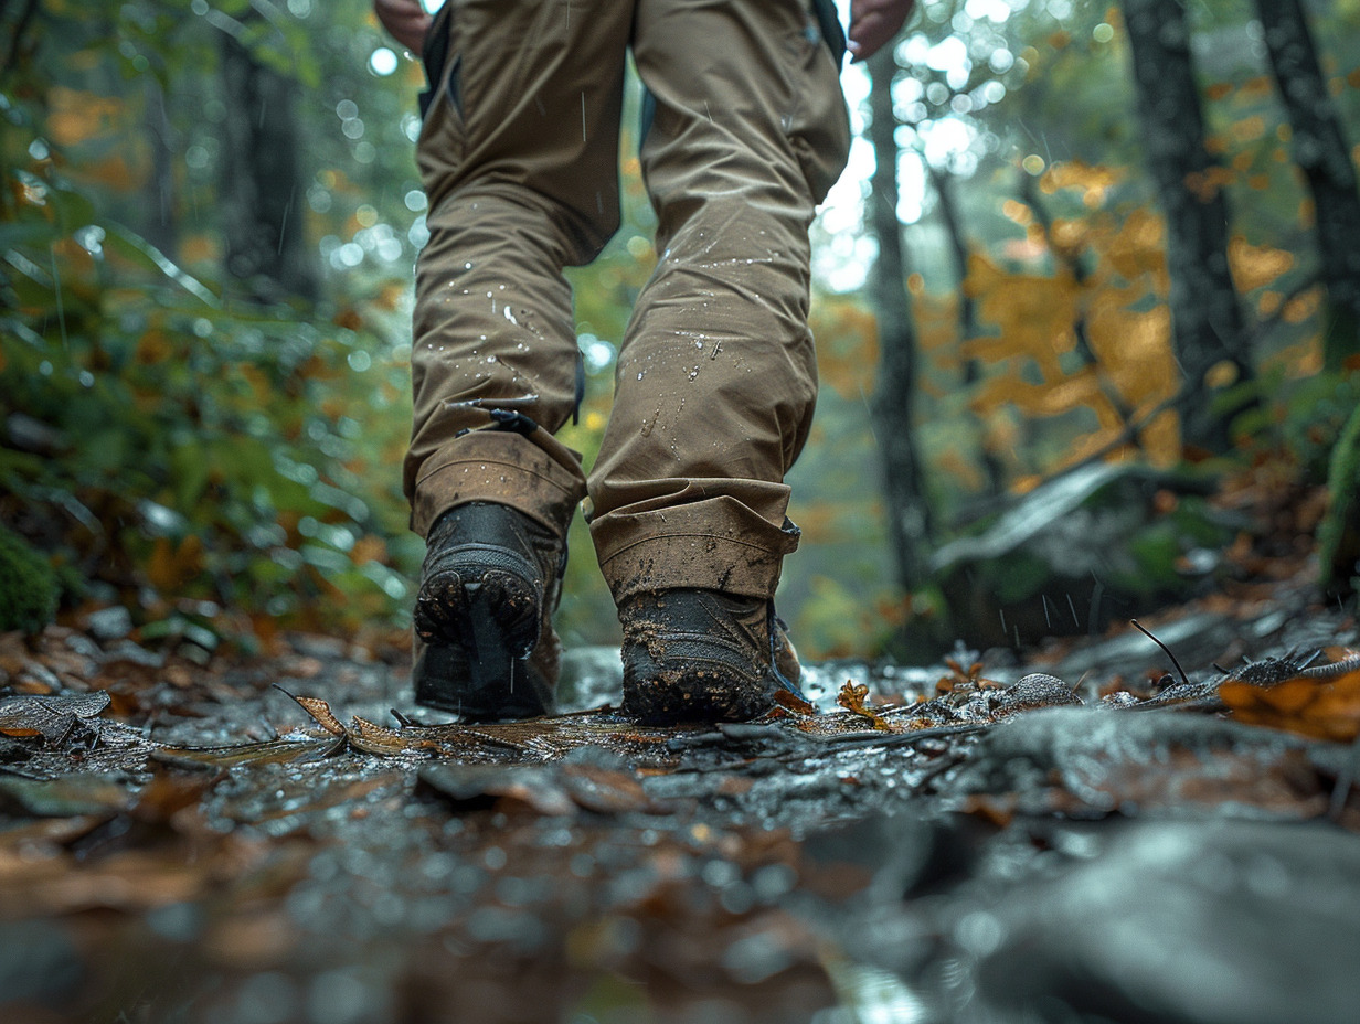
[[[613,0],[449,0],[419,144],[430,242],[416,280],[404,483],[427,539],[416,699],[473,718],[551,709],[551,613],[581,458],[562,268],[613,234],[631,12]]]

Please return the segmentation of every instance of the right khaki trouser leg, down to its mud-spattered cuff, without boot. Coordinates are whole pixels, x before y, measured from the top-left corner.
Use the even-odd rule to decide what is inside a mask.
[[[616,601],[770,597],[816,400],[808,226],[849,152],[838,68],[802,0],[638,0],[632,46],[660,261],[620,347],[592,536]]]

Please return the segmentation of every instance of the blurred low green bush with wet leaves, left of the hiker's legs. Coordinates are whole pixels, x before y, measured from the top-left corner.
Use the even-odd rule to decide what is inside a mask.
[[[52,185],[53,204],[79,201]],[[126,258],[148,248],[125,228],[64,220],[39,219],[46,235],[10,248],[29,272],[0,311],[22,340],[5,351],[0,403],[60,447],[0,447],[0,485],[30,509],[80,509],[98,543],[67,537],[72,558],[117,585],[271,615],[321,596],[343,598],[326,602],[340,616],[390,615],[405,594],[388,552],[400,524],[359,496],[363,427],[343,400],[358,397],[352,364],[371,366],[374,339],[219,299],[163,257],[154,269]]]

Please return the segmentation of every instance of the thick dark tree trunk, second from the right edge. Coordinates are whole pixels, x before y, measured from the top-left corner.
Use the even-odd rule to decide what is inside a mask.
[[[1168,303],[1185,374],[1178,403],[1182,438],[1210,451],[1228,447],[1227,413],[1213,408],[1205,375],[1229,360],[1251,375],[1242,309],[1228,269],[1228,204],[1209,174],[1204,117],[1182,0],[1123,0],[1148,169],[1167,223]]]

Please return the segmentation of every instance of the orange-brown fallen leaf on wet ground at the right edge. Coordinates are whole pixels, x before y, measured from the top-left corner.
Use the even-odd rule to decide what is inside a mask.
[[[1360,736],[1360,669],[1336,679],[1296,676],[1273,687],[1229,680],[1219,696],[1248,725],[1338,743]]]

